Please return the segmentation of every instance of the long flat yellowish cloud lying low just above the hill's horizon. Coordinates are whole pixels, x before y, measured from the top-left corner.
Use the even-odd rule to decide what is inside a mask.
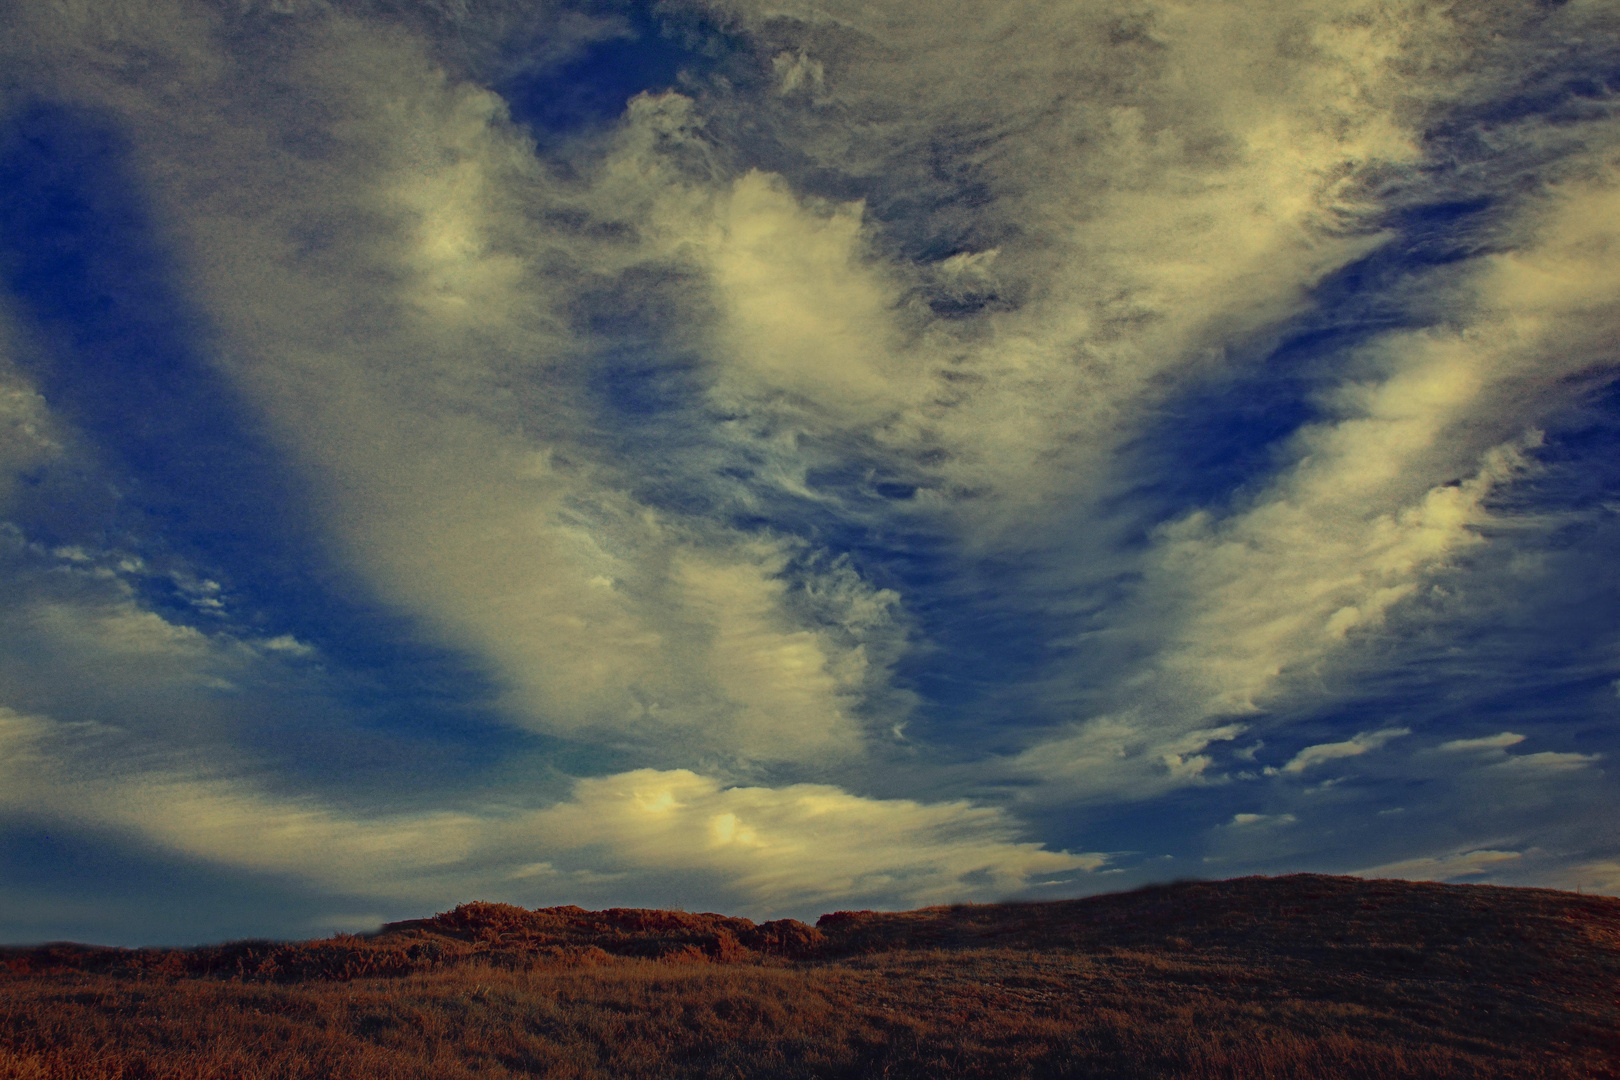
[[[539,811],[360,816],[313,797],[274,795],[217,766],[211,776],[151,761],[112,764],[96,745],[122,740],[117,730],[0,709],[0,810],[416,902],[468,889],[531,904],[604,899],[606,889],[648,878],[700,874],[708,897],[757,913],[807,913],[816,904],[993,899],[1105,861],[1021,842],[1016,823],[993,808],[862,798],[823,784],[726,787],[684,769],[578,780],[570,798]]]

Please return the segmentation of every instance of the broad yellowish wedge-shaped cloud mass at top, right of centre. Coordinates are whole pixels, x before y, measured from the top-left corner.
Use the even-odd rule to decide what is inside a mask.
[[[773,117],[816,167],[880,191],[880,176],[915,185],[925,202],[940,181],[922,162],[961,142],[961,170],[990,204],[977,220],[941,209],[910,223],[1008,225],[995,248],[906,267],[881,259],[862,206],[804,199],[781,178],[682,194],[667,243],[716,287],[716,393],[776,424],[943,455],[923,505],[964,515],[980,541],[1014,507],[1038,520],[1048,497],[1095,494],[1134,416],[1377,243],[1341,228],[1366,202],[1358,170],[1416,159],[1380,105],[1380,62],[1422,45],[1414,28],[1369,31],[1353,5],[1307,26],[1281,8],[1016,3],[993,31],[904,0],[794,6],[799,29],[776,5],[716,6],[779,37],[779,66],[805,49],[821,63],[841,118],[787,105]],[[1277,19],[1312,47],[1280,49]],[[857,44],[868,34],[894,52]],[[724,104],[703,107],[724,130]],[[760,104],[747,108],[752,121]],[[1017,303],[962,324],[899,303],[930,288]],[[975,499],[957,500],[964,489]]]

